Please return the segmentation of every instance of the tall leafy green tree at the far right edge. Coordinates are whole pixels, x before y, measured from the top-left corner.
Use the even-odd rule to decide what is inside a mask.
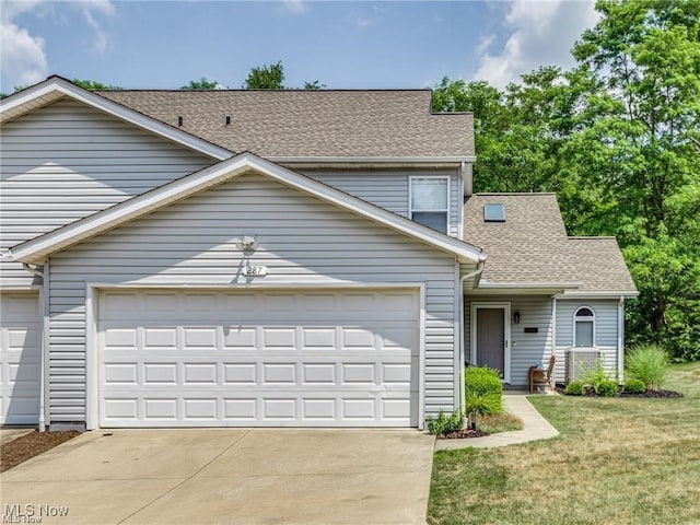
[[[584,233],[620,240],[640,289],[633,332],[699,359],[700,0],[596,9],[603,18],[573,49],[591,90],[570,150],[616,221]]]

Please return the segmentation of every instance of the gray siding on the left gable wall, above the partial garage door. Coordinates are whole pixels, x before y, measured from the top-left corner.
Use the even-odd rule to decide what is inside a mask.
[[[3,124],[0,148],[2,248],[213,162],[67,98]],[[0,287],[33,281],[20,264],[0,272]]]

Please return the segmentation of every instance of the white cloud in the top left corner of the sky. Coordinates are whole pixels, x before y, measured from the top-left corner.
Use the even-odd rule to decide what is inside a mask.
[[[3,92],[15,85],[34,84],[46,78],[48,62],[44,39],[31,35],[14,19],[39,4],[38,1],[3,2],[0,19],[0,75]]]

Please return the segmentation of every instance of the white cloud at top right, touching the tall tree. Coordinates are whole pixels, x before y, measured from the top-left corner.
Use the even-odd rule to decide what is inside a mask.
[[[502,89],[539,66],[570,68],[574,42],[597,20],[592,1],[515,0],[503,19],[509,36],[502,49],[492,54],[493,39],[483,38],[474,78]]]

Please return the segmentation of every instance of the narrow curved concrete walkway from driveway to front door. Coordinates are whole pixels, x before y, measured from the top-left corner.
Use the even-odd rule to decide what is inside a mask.
[[[516,445],[529,441],[547,440],[559,435],[559,431],[549,424],[549,421],[542,418],[527,400],[525,396],[528,395],[526,392],[509,392],[503,395],[505,410],[523,420],[523,430],[500,432],[498,434],[467,440],[435,440],[435,450],[452,451],[455,448],[468,448],[470,446],[475,448],[491,448]]]

